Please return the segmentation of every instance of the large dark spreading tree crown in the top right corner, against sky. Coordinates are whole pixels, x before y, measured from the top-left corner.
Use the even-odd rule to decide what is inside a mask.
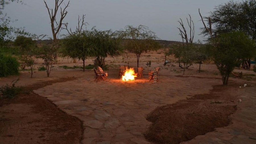
[[[210,23],[212,34],[241,31],[245,32],[251,39],[256,40],[256,1],[246,0],[241,2],[229,1],[218,5],[210,12]],[[203,28],[202,34],[208,35]],[[256,54],[255,54],[256,55]],[[243,59],[243,68],[250,69],[250,58]]]

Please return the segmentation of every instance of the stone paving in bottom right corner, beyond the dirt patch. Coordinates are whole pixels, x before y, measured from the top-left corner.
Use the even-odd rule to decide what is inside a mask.
[[[242,88],[238,93],[242,101],[231,115],[233,124],[181,144],[256,144],[256,88]]]

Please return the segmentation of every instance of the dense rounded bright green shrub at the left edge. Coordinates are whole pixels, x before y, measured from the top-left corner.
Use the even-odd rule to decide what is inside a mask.
[[[15,57],[0,55],[0,77],[18,74],[19,66]]]

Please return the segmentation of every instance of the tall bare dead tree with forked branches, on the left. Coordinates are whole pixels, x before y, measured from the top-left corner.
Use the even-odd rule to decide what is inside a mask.
[[[51,32],[53,35],[53,57],[54,57],[54,61],[55,63],[57,63],[57,58],[58,58],[58,49],[59,49],[59,41],[57,39],[57,35],[59,34],[61,27],[63,24],[67,24],[67,23],[63,23],[63,19],[65,18],[65,16],[67,15],[67,7],[69,6],[69,2],[67,3],[67,5],[65,5],[64,9],[62,9],[60,7],[60,5],[63,3],[64,0],[55,0],[55,7],[54,10],[50,9],[46,3],[46,1],[44,1],[45,6],[48,10],[48,14],[51,20]],[[60,18],[59,20],[57,20],[57,12],[60,9]]]

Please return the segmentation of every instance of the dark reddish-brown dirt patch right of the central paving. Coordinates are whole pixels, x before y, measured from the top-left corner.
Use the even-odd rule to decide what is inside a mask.
[[[232,104],[236,98],[227,99],[224,89],[234,88],[214,86],[209,94],[157,107],[147,115],[147,120],[153,124],[144,133],[146,139],[159,144],[176,144],[229,125],[229,115],[236,111],[236,105]],[[218,101],[214,101],[216,98]]]

